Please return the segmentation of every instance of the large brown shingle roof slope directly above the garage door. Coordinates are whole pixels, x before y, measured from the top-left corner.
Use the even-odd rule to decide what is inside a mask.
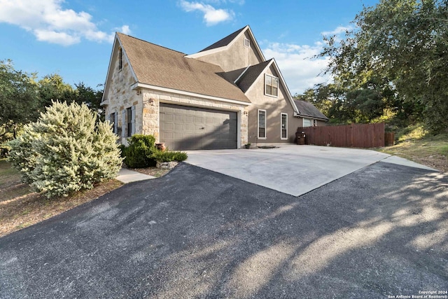
[[[125,34],[118,33],[118,38],[139,83],[251,102],[235,83],[219,76],[224,71],[216,64]]]

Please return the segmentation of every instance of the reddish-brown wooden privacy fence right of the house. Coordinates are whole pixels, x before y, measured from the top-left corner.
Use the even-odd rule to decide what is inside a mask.
[[[384,123],[299,127],[306,134],[306,144],[376,148],[384,146]]]

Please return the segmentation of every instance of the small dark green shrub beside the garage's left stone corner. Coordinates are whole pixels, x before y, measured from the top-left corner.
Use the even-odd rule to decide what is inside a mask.
[[[155,138],[152,135],[134,134],[128,139],[129,146],[124,149],[125,164],[130,168],[144,168],[155,166],[151,158],[157,151]]]

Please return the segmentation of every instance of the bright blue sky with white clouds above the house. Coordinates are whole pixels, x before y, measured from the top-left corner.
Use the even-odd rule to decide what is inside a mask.
[[[104,84],[115,32],[186,54],[250,25],[266,59],[275,58],[290,92],[324,75],[323,35],[342,34],[378,0],[0,0],[0,60],[38,78]],[[98,87],[101,88],[101,87]]]

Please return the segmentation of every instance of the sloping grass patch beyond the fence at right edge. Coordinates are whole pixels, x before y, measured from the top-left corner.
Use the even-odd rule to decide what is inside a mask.
[[[448,134],[429,136],[419,126],[407,127],[395,134],[396,144],[379,151],[448,172]]]

